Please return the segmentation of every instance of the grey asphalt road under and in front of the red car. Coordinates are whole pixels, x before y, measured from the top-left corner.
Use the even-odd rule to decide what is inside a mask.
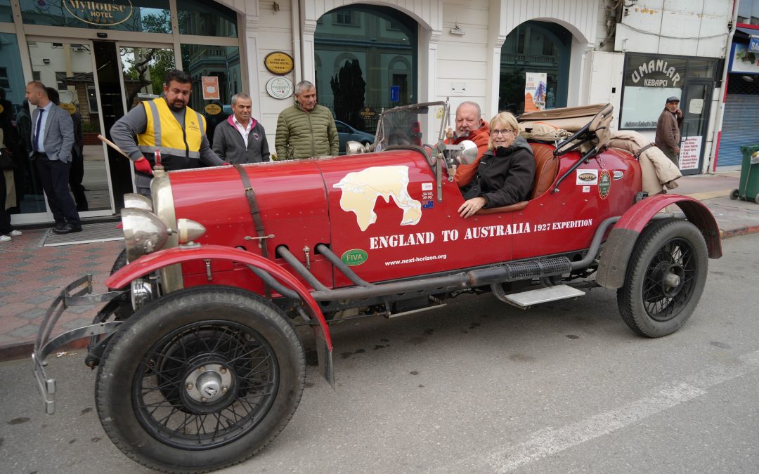
[[[310,366],[279,438],[225,472],[756,472],[759,234],[723,246],[660,339],[629,331],[610,290],[335,325],[336,390]],[[0,364],[0,472],[146,472],[102,432],[82,360],[50,364],[54,416],[29,361]]]

